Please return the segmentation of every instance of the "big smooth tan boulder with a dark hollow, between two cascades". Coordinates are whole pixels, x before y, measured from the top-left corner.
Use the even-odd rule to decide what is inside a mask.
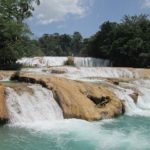
[[[12,79],[52,90],[65,118],[100,120],[121,115],[124,110],[120,99],[103,86],[35,74],[18,73]]]

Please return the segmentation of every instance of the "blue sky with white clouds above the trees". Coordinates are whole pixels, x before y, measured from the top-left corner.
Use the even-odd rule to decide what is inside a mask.
[[[35,37],[75,31],[90,37],[105,21],[141,13],[150,15],[150,0],[41,0],[27,23]]]

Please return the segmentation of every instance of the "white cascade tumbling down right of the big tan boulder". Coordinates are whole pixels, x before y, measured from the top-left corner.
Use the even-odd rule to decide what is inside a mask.
[[[136,81],[136,83],[138,83],[138,81]],[[136,104],[130,96],[130,94],[135,92],[135,89],[139,93]],[[116,86],[111,87],[110,90],[113,91],[117,97],[124,100],[127,115],[150,116],[150,89],[135,84],[131,84],[130,87],[129,84],[129,88]]]

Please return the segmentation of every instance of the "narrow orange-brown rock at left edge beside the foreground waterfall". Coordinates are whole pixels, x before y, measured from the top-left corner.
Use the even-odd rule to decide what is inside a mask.
[[[5,102],[5,87],[0,84],[0,124],[8,121],[8,111]]]

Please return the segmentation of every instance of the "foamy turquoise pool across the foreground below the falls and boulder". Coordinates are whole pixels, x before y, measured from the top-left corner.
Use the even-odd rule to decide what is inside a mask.
[[[4,126],[0,127],[0,150],[150,150],[150,118]]]

